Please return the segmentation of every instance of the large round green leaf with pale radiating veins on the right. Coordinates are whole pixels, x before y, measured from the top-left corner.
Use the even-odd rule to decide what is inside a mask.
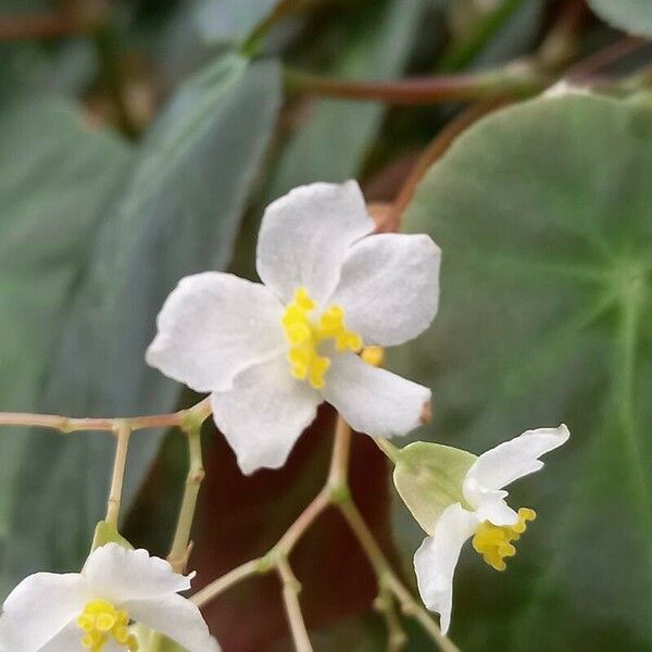
[[[469,129],[408,212],[443,250],[436,325],[394,356],[434,388],[426,436],[479,453],[572,431],[513,489],[539,518],[509,572],[464,556],[463,649],[652,647],[650,178],[649,104],[546,98]]]

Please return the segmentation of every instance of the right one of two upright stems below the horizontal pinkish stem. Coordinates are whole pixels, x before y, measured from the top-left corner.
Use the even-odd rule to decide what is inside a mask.
[[[188,441],[189,468],[174,540],[167,555],[167,561],[176,573],[185,573],[188,565],[188,557],[192,549],[190,531],[195,521],[199,489],[205,475],[201,454],[202,423],[203,421],[191,423],[184,428]]]

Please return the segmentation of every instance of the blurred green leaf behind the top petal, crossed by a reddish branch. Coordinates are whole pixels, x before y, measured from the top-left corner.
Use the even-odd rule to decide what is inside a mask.
[[[352,79],[391,79],[410,55],[419,0],[381,0],[350,26],[348,45],[328,74]],[[319,100],[283,153],[269,196],[312,181],[355,177],[384,115],[377,103]]]

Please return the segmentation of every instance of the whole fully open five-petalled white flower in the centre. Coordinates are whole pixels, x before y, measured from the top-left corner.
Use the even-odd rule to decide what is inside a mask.
[[[296,188],[263,216],[256,268],[188,276],[158,318],[147,361],[200,392],[243,473],[281,466],[317,405],[383,437],[419,424],[430,390],[366,364],[437,312],[440,251],[425,235],[374,231],[355,181]]]

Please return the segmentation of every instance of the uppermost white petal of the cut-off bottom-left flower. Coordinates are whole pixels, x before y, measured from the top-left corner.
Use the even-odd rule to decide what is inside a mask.
[[[91,552],[83,573],[93,594],[114,604],[185,591],[192,577],[175,573],[147,550],[127,550],[117,543]]]

